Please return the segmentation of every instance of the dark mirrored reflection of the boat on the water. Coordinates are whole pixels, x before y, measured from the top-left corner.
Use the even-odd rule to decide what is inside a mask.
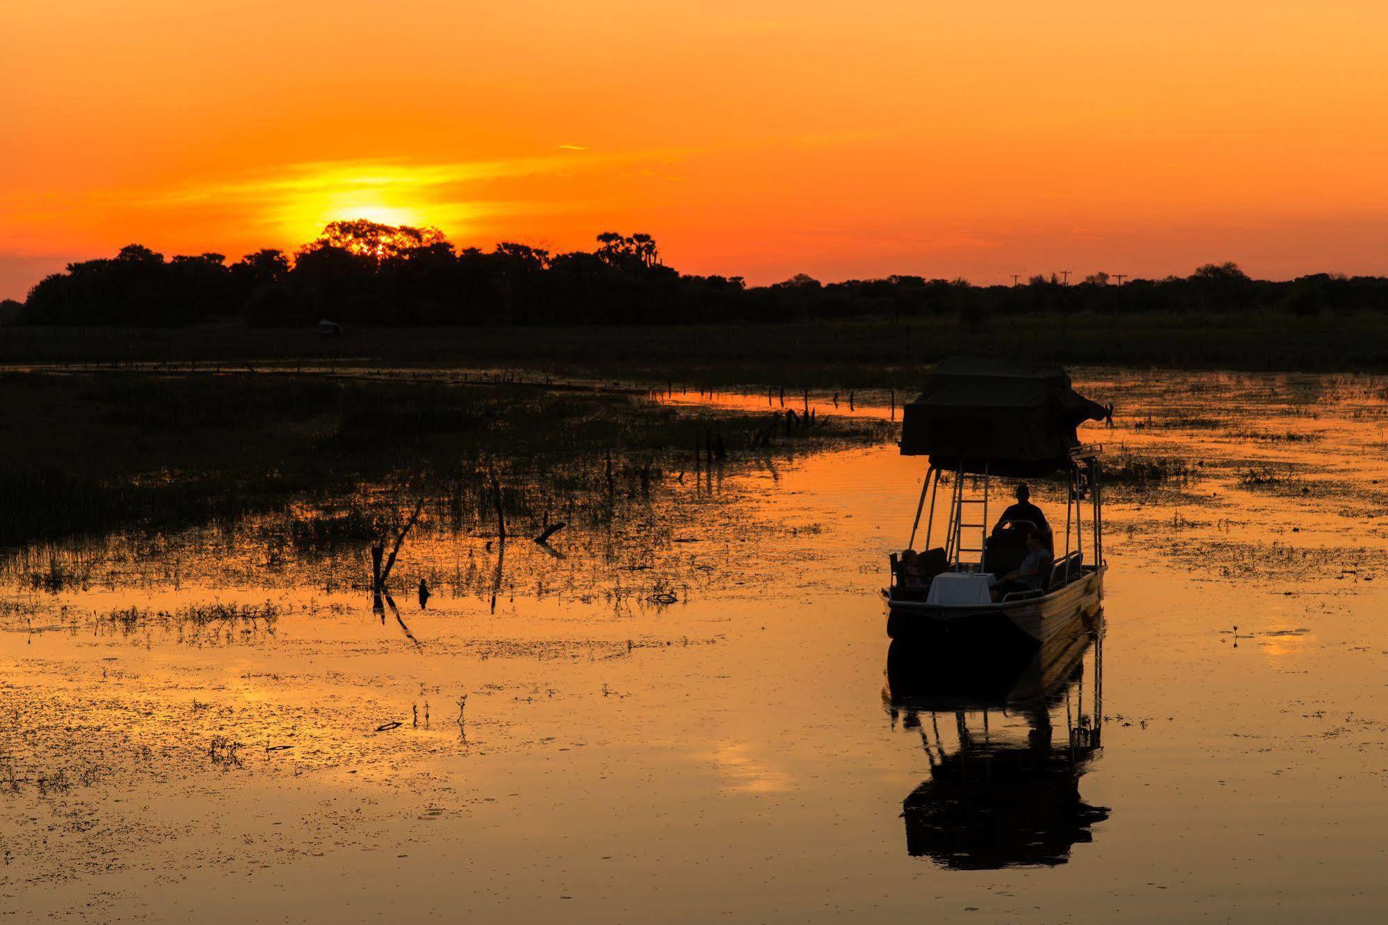
[[[883,699],[930,756],[930,778],[902,801],[909,854],[954,869],[1056,865],[1092,839],[1109,818],[1080,797],[1101,751],[1102,619],[1020,667],[891,643]]]

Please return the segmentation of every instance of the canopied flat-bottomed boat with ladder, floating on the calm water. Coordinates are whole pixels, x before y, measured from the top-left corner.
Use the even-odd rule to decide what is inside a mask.
[[[901,453],[929,457],[906,549],[924,522],[919,574],[904,579],[890,557],[887,635],[951,650],[1042,650],[1103,600],[1103,447],[1080,443],[1085,421],[1110,408],[1074,392],[1059,367],[949,358],[902,411]],[[1066,479],[1063,535],[1052,528],[1052,564],[1037,589],[992,592],[1016,568],[1024,532],[1019,521],[990,532],[997,483],[1010,478]],[[942,511],[937,511],[941,508]],[[1085,512],[1088,519],[1085,521]],[[942,542],[936,531],[942,519]]]

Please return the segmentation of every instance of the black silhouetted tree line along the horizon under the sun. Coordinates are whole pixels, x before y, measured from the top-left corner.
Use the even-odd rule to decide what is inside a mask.
[[[165,260],[130,244],[111,258],[68,264],[39,282],[19,324],[161,326],[244,319],[251,325],[348,324],[694,324],[858,317],[992,317],[1047,312],[1289,312],[1382,310],[1388,279],[1316,274],[1251,279],[1235,264],[1190,276],[1105,274],[1069,285],[1058,275],[1012,286],[892,275],[820,283],[797,275],[770,286],[741,276],[680,274],[650,235],[604,232],[593,251],[550,253],[498,243],[455,247],[433,228],[366,219],[329,224],[290,258],[264,249],[228,264],[222,254]]]

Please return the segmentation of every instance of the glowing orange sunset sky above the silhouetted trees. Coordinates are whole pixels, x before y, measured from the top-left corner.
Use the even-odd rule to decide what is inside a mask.
[[[0,297],[129,242],[1388,274],[1381,0],[0,3]]]

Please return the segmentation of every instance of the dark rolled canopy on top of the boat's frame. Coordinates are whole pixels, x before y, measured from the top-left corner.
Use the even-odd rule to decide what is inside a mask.
[[[901,453],[941,469],[1044,475],[1069,465],[1083,421],[1105,417],[1060,367],[952,357],[902,410]]]

